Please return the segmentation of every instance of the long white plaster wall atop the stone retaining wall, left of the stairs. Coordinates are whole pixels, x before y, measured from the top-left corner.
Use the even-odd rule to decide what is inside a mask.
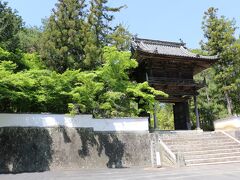
[[[148,118],[94,119],[92,115],[0,114],[0,127],[76,127],[94,131],[148,131]]]

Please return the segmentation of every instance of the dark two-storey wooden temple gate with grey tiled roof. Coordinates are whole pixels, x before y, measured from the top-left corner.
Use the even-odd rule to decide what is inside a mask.
[[[132,57],[139,66],[133,73],[137,82],[148,81],[157,90],[164,91],[168,98],[157,97],[159,102],[174,103],[175,130],[191,128],[188,100],[194,98],[196,127],[200,129],[197,108],[198,90],[203,83],[193,76],[210,67],[217,56],[202,56],[190,52],[184,43],[135,38],[132,41]],[[155,127],[156,128],[156,118]]]

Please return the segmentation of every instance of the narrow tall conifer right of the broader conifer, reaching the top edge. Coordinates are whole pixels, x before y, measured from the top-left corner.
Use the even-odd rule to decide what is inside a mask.
[[[90,9],[85,24],[85,59],[87,69],[94,69],[102,64],[103,47],[109,44],[109,34],[112,33],[110,22],[114,19],[112,13],[119,12],[124,6],[111,8],[108,0],[91,0]]]

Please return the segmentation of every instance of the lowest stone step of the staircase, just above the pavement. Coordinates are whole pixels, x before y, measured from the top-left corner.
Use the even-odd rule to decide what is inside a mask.
[[[185,160],[186,165],[191,164],[204,164],[204,163],[220,163],[220,162],[231,162],[231,161],[240,161],[240,156],[227,156],[227,157],[218,157],[218,158],[204,158],[204,159],[194,159],[194,160]]]

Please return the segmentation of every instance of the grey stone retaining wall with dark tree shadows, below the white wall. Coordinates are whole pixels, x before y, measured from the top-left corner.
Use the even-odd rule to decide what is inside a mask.
[[[150,134],[1,127],[0,173],[151,166]]]

